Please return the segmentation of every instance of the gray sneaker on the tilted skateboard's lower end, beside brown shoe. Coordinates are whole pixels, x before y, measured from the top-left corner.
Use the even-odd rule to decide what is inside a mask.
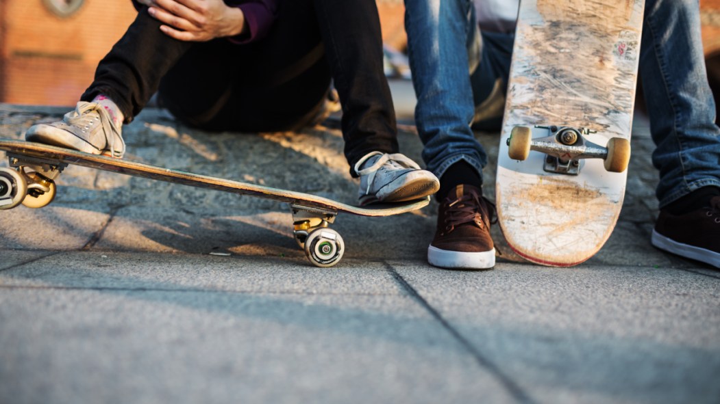
[[[368,153],[357,162],[355,172],[360,175],[360,205],[410,201],[440,189],[440,181],[433,173],[421,170],[400,153]]]

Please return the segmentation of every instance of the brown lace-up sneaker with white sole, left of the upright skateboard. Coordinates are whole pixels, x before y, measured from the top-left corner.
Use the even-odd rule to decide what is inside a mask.
[[[495,246],[490,237],[494,212],[480,188],[453,188],[438,211],[438,228],[428,247],[430,265],[474,270],[494,267]]]

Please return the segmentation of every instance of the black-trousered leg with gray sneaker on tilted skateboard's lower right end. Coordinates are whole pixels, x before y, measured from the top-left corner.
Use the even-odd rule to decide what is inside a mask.
[[[435,193],[438,180],[398,153],[395,109],[382,66],[374,0],[315,0],[320,32],[343,108],[345,155],[361,203]]]

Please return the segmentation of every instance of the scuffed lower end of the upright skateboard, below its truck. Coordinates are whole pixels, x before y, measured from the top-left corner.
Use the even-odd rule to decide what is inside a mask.
[[[567,175],[536,177],[499,167],[498,178],[505,239],[513,252],[539,265],[572,267],[593,257],[610,238],[624,200],[624,187],[595,187]]]

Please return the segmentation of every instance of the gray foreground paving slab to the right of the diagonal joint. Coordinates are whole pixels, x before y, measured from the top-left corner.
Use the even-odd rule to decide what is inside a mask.
[[[508,263],[489,274],[391,264],[479,362],[533,402],[720,398],[717,272]]]

